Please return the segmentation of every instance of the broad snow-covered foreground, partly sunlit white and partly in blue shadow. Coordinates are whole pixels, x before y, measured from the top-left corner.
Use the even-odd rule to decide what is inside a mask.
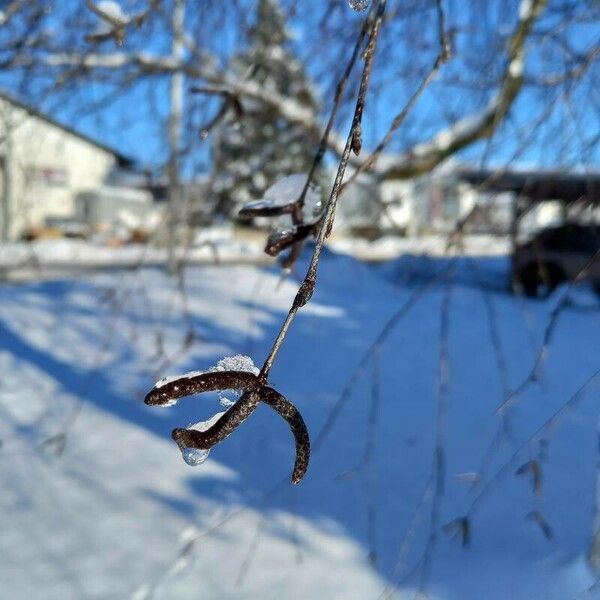
[[[504,258],[461,258],[447,270],[425,257],[373,267],[325,253],[271,376],[315,446],[295,487],[289,430],[268,407],[189,467],[170,431],[222,410],[217,396],[142,403],[165,375],[237,353],[260,364],[293,280],[196,266],[183,282],[145,268],[3,284],[0,598],[376,600],[420,588],[432,600],[600,597],[586,592],[584,560],[600,378],[536,435],[600,366],[598,300],[575,290],[539,382],[518,397],[486,461],[502,431],[498,362],[515,388],[566,292],[519,300],[505,292],[506,268]],[[438,275],[423,287],[440,270],[452,285]],[[384,324],[419,293],[339,404]],[[531,460],[540,494],[532,470],[515,476]],[[466,548],[442,529],[464,515]]]

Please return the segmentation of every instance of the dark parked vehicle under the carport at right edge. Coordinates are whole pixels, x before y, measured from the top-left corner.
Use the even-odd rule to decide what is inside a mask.
[[[544,298],[564,281],[587,280],[600,292],[600,224],[543,229],[515,248],[513,287]]]

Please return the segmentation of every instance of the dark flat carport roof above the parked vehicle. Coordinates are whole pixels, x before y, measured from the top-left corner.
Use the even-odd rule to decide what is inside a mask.
[[[600,203],[600,173],[572,171],[493,171],[463,168],[457,176],[462,181],[494,192],[514,192],[537,202],[559,200],[576,202],[586,199]]]

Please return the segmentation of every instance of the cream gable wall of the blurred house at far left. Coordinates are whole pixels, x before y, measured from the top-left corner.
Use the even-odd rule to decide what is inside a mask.
[[[0,132],[10,238],[47,218],[74,216],[77,194],[100,188],[115,164],[110,152],[1,98]]]

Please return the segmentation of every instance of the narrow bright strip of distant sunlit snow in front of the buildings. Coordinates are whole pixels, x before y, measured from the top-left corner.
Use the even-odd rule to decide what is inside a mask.
[[[189,247],[178,249],[176,257],[191,265],[269,265],[273,259],[263,251],[266,237],[266,232],[260,230],[234,232],[231,227],[209,227],[199,230]],[[387,235],[375,241],[337,236],[328,245],[336,252],[348,256],[381,262],[407,253],[444,256],[447,252],[447,236],[404,238]],[[490,235],[463,237],[461,252],[465,255],[501,256],[508,251],[507,238]],[[166,248],[150,244],[110,246],[106,243],[73,239],[14,242],[0,246],[0,277],[22,281],[56,277],[57,273],[73,270],[163,266],[168,260]]]

